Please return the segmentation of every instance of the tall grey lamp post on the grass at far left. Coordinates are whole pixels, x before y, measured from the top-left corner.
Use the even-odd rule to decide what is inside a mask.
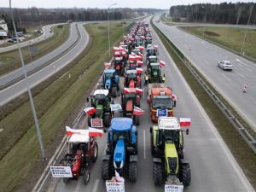
[[[21,53],[20,42],[19,42],[19,38],[18,38],[18,35],[17,35],[16,26],[15,26],[14,15],[13,15],[13,12],[12,12],[11,0],[9,0],[9,10],[10,10],[13,26],[14,26],[14,29],[15,29],[15,36],[17,38],[17,44],[18,44],[18,49],[19,49],[19,53],[20,53],[20,61],[21,61],[22,70],[23,70],[23,73],[24,73],[24,76],[25,76],[26,88],[27,88],[29,100],[30,100],[30,103],[31,103],[32,114],[33,114],[33,117],[34,117],[36,129],[37,129],[37,133],[38,133],[38,142],[39,142],[39,145],[40,145],[40,148],[41,148],[42,158],[43,158],[43,160],[46,160],[45,151],[44,151],[44,143],[42,141],[41,132],[40,132],[40,129],[39,129],[38,117],[37,117],[36,109],[35,109],[34,102],[33,102],[33,99],[32,99],[31,89],[30,89],[30,86],[28,84],[26,68],[25,68],[25,65],[24,65],[23,55]]]

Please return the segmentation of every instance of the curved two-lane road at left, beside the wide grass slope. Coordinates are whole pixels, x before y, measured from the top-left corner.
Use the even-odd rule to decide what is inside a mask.
[[[47,67],[44,67],[37,73],[33,73],[31,76],[28,77],[30,87],[34,87],[35,85],[39,84],[45,79],[48,79],[49,76],[51,76],[52,74],[61,70],[62,67],[67,66],[68,63],[73,61],[73,59],[76,58],[85,49],[85,47],[89,42],[89,35],[84,30],[84,26],[83,26],[84,23],[77,24],[79,34],[78,32],[76,32],[77,30],[75,25],[76,23],[73,23],[71,25],[70,38],[67,40],[67,42],[62,44],[58,49],[55,49],[55,51],[49,53],[48,55],[44,55],[42,58],[32,62],[27,66],[27,67],[35,67],[35,65],[40,65],[40,64],[43,65],[46,61],[49,61],[50,56],[54,58],[54,56],[60,55],[63,51],[69,48],[76,41],[76,39],[80,34],[80,39],[78,44],[76,44],[73,47],[73,49],[69,50],[67,54],[62,55],[56,61],[51,62]],[[18,72],[22,73],[20,69],[15,71],[15,73],[18,73]],[[4,76],[4,77],[7,77],[7,76]],[[9,86],[4,90],[0,90],[0,106],[6,102],[9,102],[10,100],[14,99],[16,96],[19,96],[25,91],[26,91],[26,82],[24,79],[20,80],[18,83],[12,84],[11,86]]]

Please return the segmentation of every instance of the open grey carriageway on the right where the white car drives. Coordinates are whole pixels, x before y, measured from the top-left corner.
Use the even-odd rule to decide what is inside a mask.
[[[177,26],[155,23],[180,49],[207,80],[230,102],[241,117],[256,131],[256,65],[217,45],[179,30]],[[189,49],[189,47],[191,49]],[[232,72],[217,67],[218,61],[231,61]],[[241,92],[247,83],[247,93]]]

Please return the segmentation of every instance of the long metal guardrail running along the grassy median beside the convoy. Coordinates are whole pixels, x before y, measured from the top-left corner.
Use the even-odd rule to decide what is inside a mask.
[[[153,24],[153,22],[152,22]],[[154,25],[154,24],[153,24]],[[155,26],[155,25],[154,25]],[[166,39],[167,43],[171,45],[172,50],[175,52],[175,54],[178,56],[178,58],[183,61],[183,64],[189,69],[189,72],[195,77],[197,82],[201,84],[201,87],[207,92],[207,94],[212,98],[212,101],[215,102],[215,104],[218,106],[218,108],[224,113],[227,119],[230,120],[230,123],[234,125],[236,128],[236,131],[238,131],[241,135],[241,137],[245,140],[245,142],[248,144],[250,148],[253,149],[253,152],[256,153],[256,140],[255,138],[247,131],[247,129],[241,124],[241,122],[236,119],[235,115],[230,112],[230,110],[225,106],[224,102],[221,101],[221,99],[214,93],[214,91],[211,90],[211,88],[207,85],[207,83],[201,79],[201,75],[197,72],[195,72],[195,69],[191,66],[189,63],[189,60],[183,55],[183,58],[177,53],[177,47],[172,44],[171,40],[166,37],[166,35],[160,31],[160,29],[155,26],[155,28],[163,35],[163,37]]]

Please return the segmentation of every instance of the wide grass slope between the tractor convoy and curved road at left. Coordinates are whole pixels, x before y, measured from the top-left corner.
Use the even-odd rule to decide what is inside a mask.
[[[103,62],[108,61],[108,26],[98,24],[86,28],[92,38],[89,51],[61,79],[50,84],[34,98],[45,146],[49,147],[56,135],[63,135],[66,119],[73,114],[75,108],[81,108],[78,106],[79,102],[84,101],[86,94],[90,94],[102,72]],[[122,30],[122,27],[111,25],[111,39],[119,43],[123,37]],[[83,73],[86,69],[86,73]],[[0,189],[3,192],[15,191],[21,183],[25,183],[26,178],[34,171],[34,164],[40,158],[30,113],[29,105],[25,103],[0,122],[0,126],[5,122],[4,131],[0,133],[1,152],[2,149],[9,148],[6,144],[3,148],[4,143],[15,144],[0,161]],[[10,141],[13,137],[7,138],[9,134],[13,135],[20,130],[23,131],[20,132],[20,137],[16,137],[16,141]],[[39,177],[40,172],[33,175]]]

